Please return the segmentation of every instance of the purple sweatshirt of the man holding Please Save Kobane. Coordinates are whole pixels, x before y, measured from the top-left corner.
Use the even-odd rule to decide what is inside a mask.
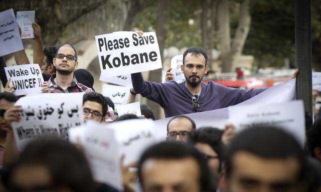
[[[174,80],[164,83],[145,81],[141,72],[131,74],[132,86],[136,93],[141,94],[164,108],[165,116],[193,113],[193,94],[186,88],[185,81],[177,83]],[[224,108],[243,102],[266,88],[230,88],[210,80],[202,83],[202,91],[197,103],[200,112]]]

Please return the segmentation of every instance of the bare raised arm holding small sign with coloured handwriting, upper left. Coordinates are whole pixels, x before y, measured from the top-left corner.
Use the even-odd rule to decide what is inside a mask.
[[[34,63],[39,64],[40,68],[42,66],[42,61],[44,55],[42,52],[42,40],[41,40],[41,28],[40,26],[33,22],[32,27],[34,28],[35,40],[34,40]]]

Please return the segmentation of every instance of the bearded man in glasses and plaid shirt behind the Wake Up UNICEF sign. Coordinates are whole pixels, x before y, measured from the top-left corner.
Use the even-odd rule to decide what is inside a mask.
[[[78,61],[77,52],[73,45],[63,44],[53,58],[53,64],[57,72],[43,83],[43,92],[93,92],[91,88],[79,83],[74,76]]]

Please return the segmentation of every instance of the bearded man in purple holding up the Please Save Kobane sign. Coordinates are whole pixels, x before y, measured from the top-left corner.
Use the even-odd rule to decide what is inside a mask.
[[[200,47],[190,47],[183,54],[186,81],[174,80],[157,83],[143,80],[141,73],[131,74],[133,90],[157,102],[164,108],[165,116],[175,116],[224,108],[243,102],[265,90],[230,88],[213,81],[202,83],[208,71],[206,52]],[[131,92],[133,91],[131,89]]]

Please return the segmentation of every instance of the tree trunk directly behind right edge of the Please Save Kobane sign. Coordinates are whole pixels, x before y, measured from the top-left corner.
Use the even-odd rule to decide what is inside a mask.
[[[161,52],[162,61],[164,61],[163,51],[165,48],[165,40],[169,30],[169,0],[157,0],[156,10],[156,35]],[[149,71],[149,81],[161,82],[162,69]],[[156,119],[159,119],[160,108],[159,105],[151,100],[147,100],[147,105],[152,109]]]

